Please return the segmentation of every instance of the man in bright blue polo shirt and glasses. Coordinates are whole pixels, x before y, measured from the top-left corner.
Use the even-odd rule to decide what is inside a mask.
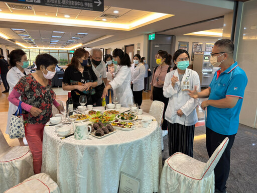
[[[239,125],[244,89],[247,84],[245,72],[233,60],[234,45],[231,40],[215,42],[210,62],[220,67],[213,76],[210,86],[201,92],[189,91],[193,98],[209,98],[201,108],[207,108],[206,148],[209,157],[223,141],[229,138],[227,147],[214,169],[215,192],[226,192],[226,180],[230,169],[230,149]]]

